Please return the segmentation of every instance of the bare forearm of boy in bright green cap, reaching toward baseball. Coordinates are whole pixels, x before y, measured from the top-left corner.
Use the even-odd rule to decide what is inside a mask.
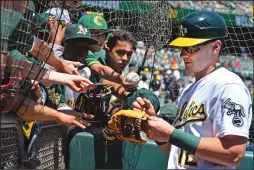
[[[122,83],[121,75],[115,72],[112,68],[104,66],[102,64],[94,64],[91,66],[91,70],[95,75],[101,76],[104,79],[115,83]]]

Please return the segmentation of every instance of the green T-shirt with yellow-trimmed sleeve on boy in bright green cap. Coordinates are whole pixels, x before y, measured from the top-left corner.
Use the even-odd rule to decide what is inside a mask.
[[[102,65],[107,65],[106,62],[106,51],[104,49],[101,48],[100,51],[98,52],[91,52],[88,51],[88,55],[85,59],[85,65],[87,65],[88,67],[91,67],[94,64],[102,64]],[[93,83],[100,83],[104,80],[104,78],[100,77],[100,76],[95,76],[93,73],[91,74],[90,80]]]

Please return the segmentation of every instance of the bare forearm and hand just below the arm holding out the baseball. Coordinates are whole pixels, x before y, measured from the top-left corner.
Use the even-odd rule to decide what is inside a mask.
[[[123,86],[118,83],[114,83],[108,80],[103,80],[102,82],[113,85],[112,94],[115,95],[119,100],[124,100],[125,97],[129,94],[129,92],[127,92]]]

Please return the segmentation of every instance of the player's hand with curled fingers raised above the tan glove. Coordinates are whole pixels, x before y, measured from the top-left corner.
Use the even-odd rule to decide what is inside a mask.
[[[138,97],[136,101],[133,103],[133,110],[144,111],[149,116],[156,115],[156,112],[154,110],[152,103],[146,98],[142,99],[141,97]]]

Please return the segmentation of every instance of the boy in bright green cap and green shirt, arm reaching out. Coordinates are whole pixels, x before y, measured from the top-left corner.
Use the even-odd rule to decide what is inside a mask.
[[[107,55],[104,44],[106,43],[107,34],[109,33],[106,20],[101,15],[88,14],[82,16],[78,20],[78,23],[91,30],[92,38],[98,41],[97,44],[90,45],[90,50],[85,59],[85,65],[91,69],[93,75],[121,84],[125,88],[134,88],[132,85],[124,82],[124,74],[115,72],[111,67],[108,67],[105,62]],[[99,83],[102,79],[92,77],[91,81]]]

